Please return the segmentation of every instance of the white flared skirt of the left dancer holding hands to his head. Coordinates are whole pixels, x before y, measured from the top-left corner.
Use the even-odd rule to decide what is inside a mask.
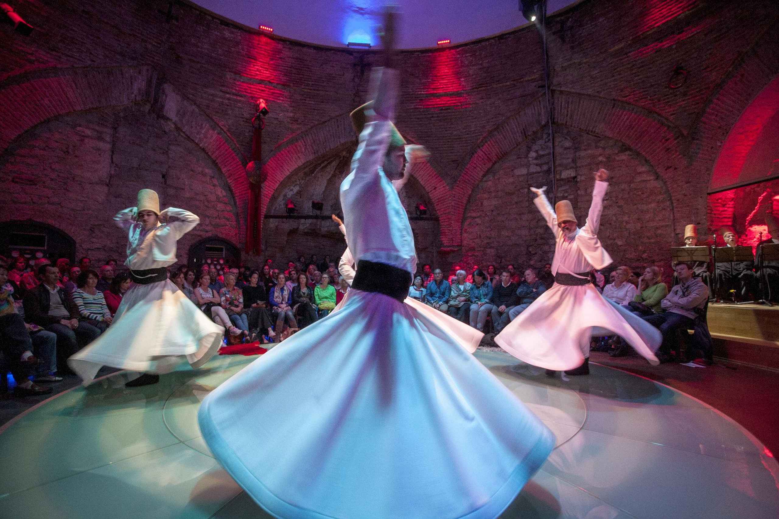
[[[114,322],[68,359],[84,384],[101,366],[167,373],[186,360],[203,366],[220,348],[224,328],[211,321],[170,280],[133,284]]]

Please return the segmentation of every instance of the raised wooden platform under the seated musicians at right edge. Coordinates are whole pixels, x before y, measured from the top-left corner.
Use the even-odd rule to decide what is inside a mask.
[[[779,306],[710,304],[707,321],[715,356],[779,370]]]

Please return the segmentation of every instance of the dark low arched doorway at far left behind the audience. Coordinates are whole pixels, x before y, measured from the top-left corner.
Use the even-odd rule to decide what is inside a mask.
[[[9,220],[0,223],[0,254],[6,258],[23,256],[31,264],[37,258],[56,263],[58,258],[76,261],[76,240],[48,223],[35,220]]]

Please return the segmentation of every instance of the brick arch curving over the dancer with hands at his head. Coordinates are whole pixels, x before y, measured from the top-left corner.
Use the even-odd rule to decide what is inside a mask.
[[[238,147],[216,121],[160,82],[151,67],[44,68],[5,76],[0,83],[0,153],[23,132],[51,117],[132,103],[152,103],[157,113],[206,152],[227,179],[237,205],[236,224],[249,204],[249,181]]]

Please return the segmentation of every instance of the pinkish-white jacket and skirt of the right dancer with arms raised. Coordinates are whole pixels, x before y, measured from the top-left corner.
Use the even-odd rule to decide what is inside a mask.
[[[555,233],[552,273],[586,275],[592,268],[605,268],[612,262],[597,238],[603,197],[608,184],[595,182],[587,223],[573,239],[557,226],[557,216],[544,195],[534,203]],[[590,356],[590,337],[620,335],[650,364],[659,361],[654,352],[660,347],[660,331],[618,304],[605,299],[591,283],[559,285],[541,294],[526,310],[495,336],[495,342],[517,359],[548,370],[573,370]]]

